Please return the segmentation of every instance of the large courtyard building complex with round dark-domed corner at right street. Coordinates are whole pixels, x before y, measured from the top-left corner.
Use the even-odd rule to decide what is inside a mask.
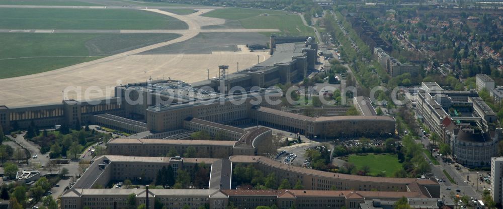
[[[488,166],[497,156],[501,129],[490,130],[494,112],[474,90],[449,91],[423,82],[418,92],[417,115],[451,146],[454,160],[467,166]]]

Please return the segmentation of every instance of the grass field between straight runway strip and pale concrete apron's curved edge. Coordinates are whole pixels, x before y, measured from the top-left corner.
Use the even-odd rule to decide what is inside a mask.
[[[0,78],[54,70],[143,46],[178,34],[0,34]]]

